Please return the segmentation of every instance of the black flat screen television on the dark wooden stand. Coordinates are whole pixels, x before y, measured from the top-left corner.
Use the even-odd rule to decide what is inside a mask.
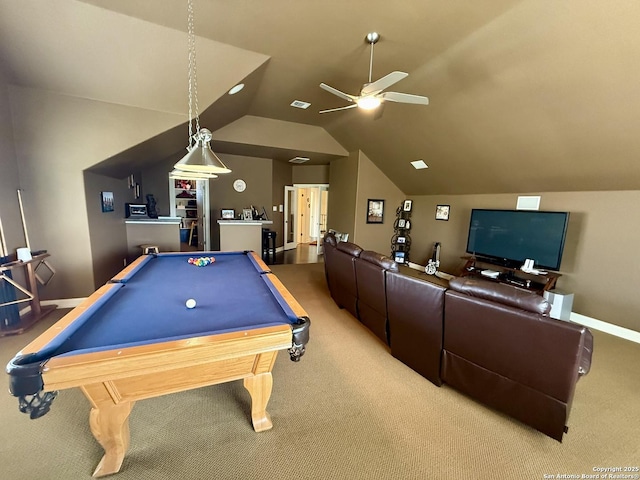
[[[568,212],[473,209],[467,253],[512,268],[528,258],[535,267],[559,270]]]

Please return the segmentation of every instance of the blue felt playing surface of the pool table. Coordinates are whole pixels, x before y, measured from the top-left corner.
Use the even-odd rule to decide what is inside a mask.
[[[198,267],[189,258],[213,257]],[[39,352],[88,353],[191,336],[257,328],[298,317],[273,285],[268,269],[247,252],[149,255]],[[186,301],[194,299],[189,309]]]

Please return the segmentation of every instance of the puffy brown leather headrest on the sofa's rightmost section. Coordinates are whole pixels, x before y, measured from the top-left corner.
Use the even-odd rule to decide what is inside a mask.
[[[472,277],[456,277],[449,280],[449,288],[472,297],[547,315],[551,305],[540,295],[503,283],[490,282]]]

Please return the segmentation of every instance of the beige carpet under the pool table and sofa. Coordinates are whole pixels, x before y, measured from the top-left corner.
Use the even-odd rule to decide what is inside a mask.
[[[272,430],[251,428],[241,382],[141,401],[131,414],[131,447],[112,478],[542,479],[640,463],[640,345],[594,332],[593,368],[578,384],[569,433],[558,443],[395,360],[335,306],[322,269],[273,266],[312,330],[300,363],[278,358]],[[3,365],[53,320],[0,338]],[[49,414],[29,420],[5,393],[6,375],[0,388],[0,479],[90,478],[102,451],[82,394],[62,391]]]

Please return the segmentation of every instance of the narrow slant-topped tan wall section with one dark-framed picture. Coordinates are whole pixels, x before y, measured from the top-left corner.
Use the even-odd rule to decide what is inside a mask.
[[[369,199],[384,200],[382,224],[367,223]],[[365,250],[374,250],[390,255],[395,212],[404,199],[404,194],[400,189],[364,153],[360,152],[358,156],[354,242]]]

